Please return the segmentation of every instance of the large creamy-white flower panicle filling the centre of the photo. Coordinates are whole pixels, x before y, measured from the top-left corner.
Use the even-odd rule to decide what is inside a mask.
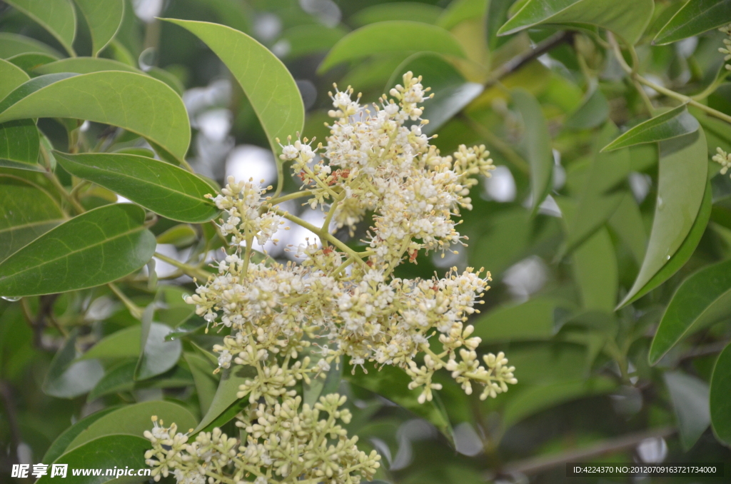
[[[444,250],[461,243],[463,236],[456,230],[459,222],[452,216],[460,208],[471,208],[469,189],[477,184],[474,175],[489,176],[493,169],[484,146],[460,146],[453,156],[441,156],[429,144],[430,138],[421,131],[428,121],[420,118],[423,108],[419,105],[428,88],[420,80],[407,73],[403,86],[396,86],[390,99],[382,97],[379,107],[361,106],[360,97],[352,100],[350,88],[331,94],[334,109],[330,116],[337,119],[330,126],[324,149],[322,145],[313,149],[306,138],[282,147],[281,160],[292,162],[294,174],[304,182],[300,193],[270,198],[256,184],[230,179],[213,199],[225,212],[221,231],[232,235],[239,246],[186,302],[194,304],[197,314],[213,326],[230,328],[223,344],[213,347],[219,354],[219,366],[251,367],[252,376],[240,385],[237,396],[248,396],[251,405],[261,405],[256,419],[264,430],[257,430],[260,427],[254,425],[253,414],[242,417],[250,422],[246,424],[249,450],[242,462],[269,466],[270,471],[265,477],[249,472],[249,477],[271,479],[274,472],[281,477],[311,476],[306,480],[311,478],[308,482],[313,483],[357,483],[355,477],[349,477],[355,469],[372,477],[371,471],[377,467],[374,455],[366,458],[346,450],[355,449],[355,439],[343,440],[339,430],[333,431],[330,439],[340,440],[333,444],[331,454],[331,447],[327,447],[328,453],[325,447],[305,450],[312,442],[315,447],[325,445],[312,432],[330,430],[287,427],[300,428],[308,418],[317,420],[308,412],[319,407],[304,407],[297,414],[300,401],[295,384],[325,377],[333,366],[349,363],[352,372],[360,367],[366,373],[366,363],[398,366],[412,378],[410,388],[421,388],[418,398],[422,403],[431,401],[433,390],[441,388],[433,382],[433,374],[442,368],[451,372],[466,393],[472,392],[472,385],[481,385],[483,399],[517,382],[515,368],[508,366],[502,353],[485,355],[484,364],[480,363],[476,352],[480,338],[471,336],[474,328],[466,324],[471,314],[479,312],[476,306],[489,289],[490,273],[472,268],[460,273],[452,268],[442,278],[393,275],[401,262],[416,262],[421,249]],[[320,150],[322,155],[317,154]],[[322,227],[277,207],[298,196],[309,197],[313,208],[321,205],[327,211]],[[363,252],[356,252],[328,230],[330,222],[335,222],[353,231],[368,212],[373,214],[373,223]],[[300,264],[270,259],[254,263],[251,241],[270,238],[282,218],[317,233],[323,245],[300,246]],[[319,405],[328,409],[336,401],[333,398],[339,397],[327,396]],[[280,428],[288,429],[286,438],[284,430],[276,430]],[[280,433],[273,436],[272,432]],[[208,439],[214,437],[222,439],[215,434]],[[303,440],[292,441],[288,447],[289,439],[300,437]],[[254,445],[252,438],[263,440]],[[251,450],[254,448],[261,452]],[[292,457],[295,451],[301,452],[297,459]],[[330,455],[324,458],[329,464],[312,464],[316,455]],[[158,461],[163,469],[167,461]],[[197,475],[197,468],[187,465],[176,467],[192,473],[184,473],[183,479]],[[270,482],[257,480],[257,484]]]

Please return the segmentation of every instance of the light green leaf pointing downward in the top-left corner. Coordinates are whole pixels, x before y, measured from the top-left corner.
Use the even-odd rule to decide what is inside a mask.
[[[7,0],[24,14],[39,23],[71,56],[75,56],[74,38],[76,37],[76,14],[70,0]]]

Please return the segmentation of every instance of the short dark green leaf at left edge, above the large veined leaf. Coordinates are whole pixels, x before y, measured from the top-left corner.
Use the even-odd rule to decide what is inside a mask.
[[[64,213],[45,190],[0,176],[0,262],[63,221]]]

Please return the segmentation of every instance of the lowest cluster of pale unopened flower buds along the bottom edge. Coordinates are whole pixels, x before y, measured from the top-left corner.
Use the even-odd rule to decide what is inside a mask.
[[[254,404],[238,415],[236,425],[246,431],[246,442],[228,437],[220,428],[200,432],[188,442],[188,434],[158,424],[145,431],[152,449],[145,453],[155,481],[173,474],[179,484],[253,482],[358,484],[372,480],[381,458],[356,447],[357,436],[348,437],[338,424],[350,422],[348,409],[340,409],[344,396],[323,396],[300,409],[301,398],[285,398],[279,404]]]

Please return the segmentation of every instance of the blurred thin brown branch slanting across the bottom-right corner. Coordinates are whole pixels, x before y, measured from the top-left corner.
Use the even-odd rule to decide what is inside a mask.
[[[597,445],[586,447],[585,449],[569,450],[568,452],[558,455],[540,456],[527,458],[522,461],[515,461],[507,464],[501,471],[500,475],[510,474],[539,474],[549,469],[555,469],[567,462],[586,461],[588,458],[600,457],[611,453],[617,453],[621,450],[637,447],[645,439],[669,437],[675,434],[678,429],[675,427],[655,428],[651,431],[637,432],[616,439],[608,439]],[[493,479],[491,475],[491,479]]]

